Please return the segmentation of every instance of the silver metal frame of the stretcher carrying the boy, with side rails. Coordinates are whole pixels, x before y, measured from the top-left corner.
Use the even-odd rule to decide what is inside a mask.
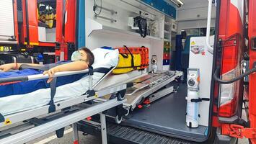
[[[76,106],[77,104],[82,104],[84,102],[89,102],[89,101],[92,101],[93,99],[100,98],[107,94],[118,93],[118,91],[125,91],[125,89],[129,85],[129,84],[120,84],[119,86],[108,87],[100,91],[93,91],[92,68],[89,68],[89,70],[84,70],[84,71],[60,72],[60,73],[56,73],[54,77],[69,76],[69,75],[79,74],[79,73],[89,73],[89,91],[91,92],[89,94],[84,94],[79,97],[54,103],[56,105],[56,112],[58,111],[61,112],[61,110],[65,108],[73,107],[73,106]],[[48,77],[49,77],[48,75],[39,74],[39,75],[33,75],[33,76],[22,76],[18,78],[1,78],[0,84],[4,82],[11,82],[11,81],[32,81],[32,80],[48,78]],[[116,96],[117,96],[116,98],[110,99],[101,104],[93,105],[92,107],[89,107],[89,108],[81,108],[81,109],[78,109],[76,112],[68,115],[63,114],[62,117],[59,117],[56,120],[49,121],[42,125],[37,125],[36,127],[32,127],[30,129],[27,129],[21,132],[17,132],[14,135],[10,135],[6,137],[5,135],[1,135],[1,133],[4,133],[4,131],[0,131],[0,138],[1,136],[3,137],[2,139],[0,139],[0,143],[27,143],[30,140],[34,140],[35,138],[40,138],[41,136],[46,135],[53,131],[56,131],[56,134],[57,134],[58,130],[62,130],[63,127],[66,127],[67,125],[73,126],[74,143],[78,143],[78,131],[77,131],[76,122],[79,122],[80,120],[84,120],[86,117],[90,117],[94,114],[99,114],[99,113],[100,113],[100,122],[101,122],[101,130],[102,130],[102,143],[107,143],[104,111],[106,111],[107,109],[111,109],[113,107],[118,107],[120,105],[123,105],[123,103],[126,101],[124,95],[116,94]],[[11,126],[17,122],[24,122],[25,120],[29,121],[34,117],[39,117],[44,114],[49,114],[48,112],[49,107],[50,107],[49,105],[46,105],[43,107],[39,107],[37,109],[30,109],[25,112],[18,112],[16,114],[6,115],[4,116],[4,122],[0,123],[0,128]],[[8,131],[8,129],[6,131]],[[19,130],[16,130],[16,131],[19,131]],[[12,132],[6,133],[6,135],[9,135],[10,133]]]

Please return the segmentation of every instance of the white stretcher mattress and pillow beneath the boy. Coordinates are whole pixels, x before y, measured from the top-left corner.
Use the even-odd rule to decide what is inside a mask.
[[[95,68],[111,68],[118,65],[118,50],[106,50],[97,48],[92,50],[95,55]],[[96,84],[105,73],[95,72],[92,76],[93,84]],[[71,84],[64,84],[56,88],[54,102],[60,102],[85,94],[89,89],[89,77],[84,76]],[[50,88],[38,89],[27,94],[16,94],[0,98],[0,113],[3,115],[14,114],[43,107],[50,102]]]

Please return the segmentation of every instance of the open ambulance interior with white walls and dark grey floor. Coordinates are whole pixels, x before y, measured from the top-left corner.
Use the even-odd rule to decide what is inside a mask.
[[[203,141],[208,138],[208,131],[211,128],[209,125],[211,104],[209,101],[198,102],[199,126],[190,128],[186,125],[186,96],[187,68],[198,68],[200,98],[210,99],[213,54],[206,46],[208,0],[182,0],[182,2],[184,4],[181,6],[169,2],[175,7],[177,14],[167,16],[159,10],[151,9],[150,4],[145,5],[139,1],[104,0],[102,4],[101,1],[86,1],[86,46],[92,49],[102,45],[112,48],[122,45],[149,48],[149,68],[145,71],[133,71],[134,76],[151,71],[153,57],[156,58],[158,71],[182,71],[183,76],[180,81],[172,81],[164,86],[164,88],[174,86],[175,92],[151,104],[144,104],[141,108],[136,107],[120,125],[175,138]],[[94,11],[95,5],[96,11]],[[102,9],[100,9],[101,5]],[[112,12],[105,8],[112,9]],[[144,38],[128,18],[139,15],[147,19],[149,24],[149,32]],[[214,41],[215,18],[216,6],[213,4],[211,47]],[[156,94],[159,91],[156,91]],[[129,99],[129,96],[126,96],[126,99]]]

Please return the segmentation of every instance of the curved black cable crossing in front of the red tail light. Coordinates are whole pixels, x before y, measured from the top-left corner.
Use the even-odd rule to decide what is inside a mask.
[[[246,71],[245,73],[242,73],[242,75],[237,76],[236,78],[233,78],[233,79],[228,80],[228,81],[224,81],[221,78],[219,78],[219,71],[220,70],[221,70],[221,68],[219,68],[219,67],[216,68],[216,71],[213,74],[213,79],[215,81],[217,81],[218,83],[220,83],[220,84],[231,84],[231,83],[234,83],[235,81],[238,81],[238,80],[244,78],[245,76],[249,76],[250,74],[255,73],[256,72],[256,67],[252,68],[249,71]]]

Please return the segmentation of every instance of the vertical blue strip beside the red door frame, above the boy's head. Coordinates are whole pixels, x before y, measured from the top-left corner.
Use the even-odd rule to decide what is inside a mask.
[[[78,48],[85,46],[85,1],[79,0],[77,43]]]

